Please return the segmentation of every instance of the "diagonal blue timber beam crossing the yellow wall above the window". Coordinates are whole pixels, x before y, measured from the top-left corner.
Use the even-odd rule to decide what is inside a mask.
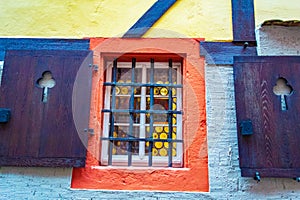
[[[123,37],[142,37],[176,1],[177,0],[157,0]]]

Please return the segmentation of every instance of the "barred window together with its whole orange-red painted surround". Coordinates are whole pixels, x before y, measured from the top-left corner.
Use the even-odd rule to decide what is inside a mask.
[[[94,134],[71,188],[209,191],[199,39],[91,38],[90,45],[99,66],[92,80]]]

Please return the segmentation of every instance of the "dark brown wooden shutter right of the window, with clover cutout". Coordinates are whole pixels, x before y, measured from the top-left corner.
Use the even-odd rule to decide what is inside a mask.
[[[234,80],[242,176],[300,177],[300,57],[235,57]],[[284,78],[293,92],[273,88]]]

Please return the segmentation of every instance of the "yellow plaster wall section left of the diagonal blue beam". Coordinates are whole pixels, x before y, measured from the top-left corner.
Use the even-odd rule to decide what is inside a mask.
[[[1,36],[112,37],[155,0],[1,0]]]

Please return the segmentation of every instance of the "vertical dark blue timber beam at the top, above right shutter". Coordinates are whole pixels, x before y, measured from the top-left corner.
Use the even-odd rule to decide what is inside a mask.
[[[253,0],[231,0],[231,6],[233,41],[256,41]]]

